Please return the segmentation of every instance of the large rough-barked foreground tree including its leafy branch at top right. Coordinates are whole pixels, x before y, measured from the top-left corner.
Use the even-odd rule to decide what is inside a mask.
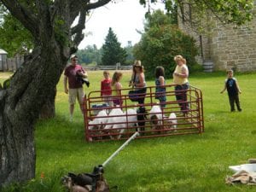
[[[87,12],[110,1],[0,0],[34,39],[32,53],[13,75],[9,88],[0,90],[0,185],[34,177],[34,122],[44,102],[54,94],[69,56],[84,38],[82,31]],[[250,0],[185,2],[224,13],[228,21],[238,24],[250,18]],[[172,0],[166,3],[172,4]],[[78,23],[72,26],[78,16]]]

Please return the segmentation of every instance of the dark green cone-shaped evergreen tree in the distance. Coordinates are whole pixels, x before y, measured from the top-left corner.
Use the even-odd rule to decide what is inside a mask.
[[[105,38],[105,44],[102,46],[102,65],[113,66],[116,63],[125,63],[126,51],[121,48],[118,38],[113,33],[111,27],[108,29],[108,35]]]

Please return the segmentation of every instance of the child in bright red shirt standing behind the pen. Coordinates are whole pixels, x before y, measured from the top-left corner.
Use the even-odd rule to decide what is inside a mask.
[[[101,96],[103,98],[103,101],[108,103],[109,106],[111,106],[112,105],[111,103],[111,95],[112,95],[111,81],[112,80],[109,77],[108,71],[104,71],[103,76],[104,76],[104,79],[102,79],[102,82],[101,82]]]

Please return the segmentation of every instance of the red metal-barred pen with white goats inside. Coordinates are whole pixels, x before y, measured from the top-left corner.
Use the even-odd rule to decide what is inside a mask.
[[[102,98],[101,91],[91,91],[84,98],[84,129],[87,141],[127,139],[135,132],[137,138],[167,137],[204,131],[201,90],[189,85],[189,90],[175,92],[175,84],[166,85],[166,106],[160,108],[155,99],[155,86],[147,87],[144,104],[131,102],[129,90],[123,89],[121,107],[113,107]],[[175,94],[186,94],[186,101],[177,101]],[[111,97],[108,102],[111,102]],[[188,109],[181,110],[186,104]],[[157,110],[154,110],[156,108]],[[159,110],[160,108],[160,110]]]

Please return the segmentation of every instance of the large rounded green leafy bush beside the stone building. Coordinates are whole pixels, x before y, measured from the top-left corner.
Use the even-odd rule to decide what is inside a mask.
[[[172,25],[168,15],[160,10],[148,17],[145,33],[134,48],[134,55],[143,62],[149,78],[153,77],[157,66],[165,67],[166,77],[170,77],[175,67],[175,55],[183,55],[192,67],[197,53],[195,39],[181,32],[177,25]]]

